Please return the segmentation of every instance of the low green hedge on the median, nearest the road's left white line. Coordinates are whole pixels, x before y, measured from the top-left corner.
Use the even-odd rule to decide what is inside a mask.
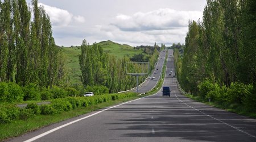
[[[103,102],[110,102],[117,99],[136,96],[136,93],[125,94],[105,94],[94,95],[93,97],[68,97],[52,99],[50,104],[36,105],[30,103],[26,108],[19,108],[15,105],[5,105],[0,107],[0,123],[9,123],[13,120],[27,120],[36,115],[60,114],[64,111],[70,111],[75,108],[88,107]]]

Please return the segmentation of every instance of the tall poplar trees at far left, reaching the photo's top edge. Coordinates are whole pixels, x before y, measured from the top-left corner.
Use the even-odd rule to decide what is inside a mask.
[[[63,66],[44,7],[37,0],[31,9],[26,0],[0,1],[0,81],[58,85]]]

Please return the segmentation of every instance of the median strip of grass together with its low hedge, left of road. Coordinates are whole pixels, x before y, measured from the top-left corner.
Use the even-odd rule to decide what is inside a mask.
[[[1,105],[0,140],[135,98],[139,98],[136,93],[103,94],[52,99],[51,103],[40,106],[28,103],[24,108],[15,104]]]

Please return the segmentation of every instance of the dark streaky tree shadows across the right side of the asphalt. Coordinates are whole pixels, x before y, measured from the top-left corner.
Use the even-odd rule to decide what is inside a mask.
[[[244,116],[234,115],[224,110],[204,105],[179,95],[187,105],[196,107],[216,119],[181,103],[174,97],[161,98],[153,95],[145,101],[129,103],[124,108],[113,108],[108,111],[115,111],[120,114],[137,114],[136,117],[118,120],[119,123],[108,123],[110,125],[129,126],[116,128],[124,133],[122,137],[179,137],[180,140],[193,141],[256,141],[254,137],[248,136],[226,124],[246,130],[251,135],[256,135],[255,121],[245,119]],[[159,106],[159,101],[161,105]],[[129,107],[130,106],[130,107]],[[147,106],[147,107],[145,107]],[[124,111],[125,110],[125,111]],[[154,130],[154,132],[152,132]],[[245,137],[246,135],[246,137]]]

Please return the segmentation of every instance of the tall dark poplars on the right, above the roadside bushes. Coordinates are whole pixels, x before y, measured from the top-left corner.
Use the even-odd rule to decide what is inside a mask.
[[[186,91],[196,94],[205,80],[251,83],[256,90],[255,13],[254,0],[207,1],[203,22],[190,21],[185,38],[178,76]]]

